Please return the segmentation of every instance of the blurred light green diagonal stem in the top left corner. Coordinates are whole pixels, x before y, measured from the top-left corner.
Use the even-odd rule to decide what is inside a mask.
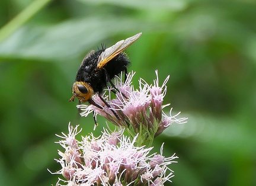
[[[45,7],[51,0],[36,0],[25,8],[20,14],[14,17],[9,23],[5,24],[0,30],[0,42],[7,39],[9,35],[18,30],[24,23],[32,18],[40,9]]]

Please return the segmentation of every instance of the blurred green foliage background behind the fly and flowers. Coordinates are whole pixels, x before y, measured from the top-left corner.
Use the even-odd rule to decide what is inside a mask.
[[[56,184],[55,134],[94,127],[68,101],[81,60],[139,32],[135,86],[171,75],[164,104],[188,117],[154,142],[180,157],[166,185],[256,185],[255,1],[48,1],[0,2],[0,185]]]

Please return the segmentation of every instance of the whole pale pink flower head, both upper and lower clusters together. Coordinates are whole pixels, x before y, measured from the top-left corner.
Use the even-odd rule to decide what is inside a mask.
[[[164,97],[167,92],[167,81],[159,85],[158,72],[153,84],[139,79],[139,88],[132,85],[135,73],[127,74],[126,81],[122,75],[115,79],[116,89],[108,88],[103,98],[101,95],[92,97],[95,105],[78,105],[83,112],[81,116],[88,116],[94,111],[117,126],[116,132],[109,133],[104,129],[102,135],[82,137],[76,140],[78,126],[69,125],[69,133],[63,136],[59,143],[65,150],[59,150],[61,158],[56,159],[62,169],[53,174],[61,174],[56,185],[164,185],[171,182],[173,171],[168,165],[174,163],[177,156],[165,158],[153,153],[153,139],[161,134],[172,123],[185,123],[187,118],[177,118],[178,114],[169,116],[164,113]],[[112,98],[111,92],[115,92]],[[103,101],[103,99],[105,101]],[[124,136],[124,130],[129,137]]]

